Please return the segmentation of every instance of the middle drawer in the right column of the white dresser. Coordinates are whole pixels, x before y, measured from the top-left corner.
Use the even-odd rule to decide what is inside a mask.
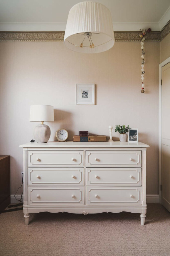
[[[141,168],[86,168],[86,184],[141,186]]]

